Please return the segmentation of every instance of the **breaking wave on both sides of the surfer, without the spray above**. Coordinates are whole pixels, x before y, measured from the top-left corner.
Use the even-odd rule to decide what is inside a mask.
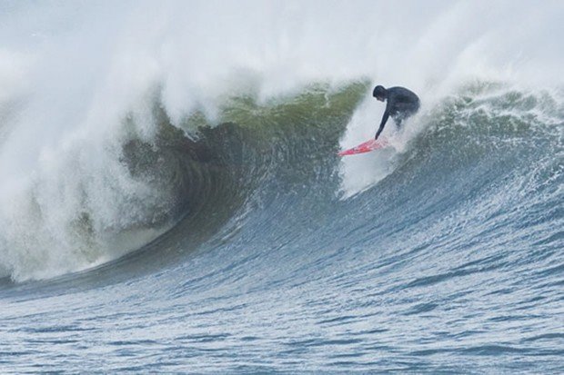
[[[414,131],[397,135],[390,126],[387,132],[396,148],[339,160],[338,140],[346,129],[355,128],[351,123],[366,109],[362,101],[369,87],[362,81],[337,90],[314,84],[268,104],[256,97],[233,97],[218,126],[210,126],[198,113],[173,126],[156,98],[155,136],[149,142],[130,131],[116,158],[120,179],[135,190],[115,183],[88,190],[92,176],[74,174],[74,191],[26,192],[25,210],[19,202],[15,207],[20,211],[12,213],[11,224],[5,223],[2,264],[17,281],[80,271],[155,239],[162,243],[163,236],[178,232],[187,237],[229,232],[227,222],[260,210],[274,200],[272,194],[303,194],[303,189],[325,192],[327,204],[332,204],[373,187],[381,191],[383,212],[397,211],[402,206],[398,202],[404,202],[415,205],[405,210],[441,212],[449,220],[454,206],[468,202],[476,212],[467,212],[464,221],[492,215],[492,199],[505,212],[534,202],[558,206],[562,104],[548,91],[471,84],[406,125]],[[126,116],[123,126],[135,129],[134,122]],[[196,135],[187,136],[183,129],[195,126]],[[385,178],[362,180],[364,185],[347,192],[347,179],[378,176],[374,163],[388,163]],[[343,173],[347,165],[355,165],[354,173]],[[339,167],[341,173],[336,173]],[[112,173],[116,171],[104,176],[111,180]],[[102,200],[100,192],[111,199]],[[533,196],[523,205],[526,192]],[[46,193],[52,195],[46,199]],[[61,202],[65,212],[58,206]],[[45,231],[30,235],[28,225]]]

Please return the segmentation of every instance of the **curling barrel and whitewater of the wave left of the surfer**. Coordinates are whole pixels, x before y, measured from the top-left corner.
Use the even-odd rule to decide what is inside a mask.
[[[320,149],[336,147],[338,129],[366,84],[337,91],[322,86],[272,104],[232,98],[222,114],[225,122],[213,127],[198,113],[175,127],[156,99],[151,115],[157,131],[150,140],[136,132],[136,119],[128,115],[126,136],[112,152],[115,160],[106,160],[97,174],[77,168],[65,150],[61,160],[50,161],[58,162],[56,168],[46,168],[52,180],[37,182],[42,190],[19,192],[17,204],[4,202],[2,264],[18,281],[53,277],[116,259],[179,221],[217,228],[274,171],[286,169],[285,178],[297,180],[319,169],[304,156],[307,147],[317,151],[316,161]],[[187,136],[183,127],[195,123],[198,132]],[[72,153],[80,158],[82,151]],[[30,226],[41,230],[29,233]]]

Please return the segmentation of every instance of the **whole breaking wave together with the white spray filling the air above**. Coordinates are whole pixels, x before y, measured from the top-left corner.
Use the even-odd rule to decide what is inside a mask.
[[[372,2],[247,5],[251,15],[198,2],[6,10],[2,274],[86,270],[196,223],[221,232],[280,192],[333,204],[371,188],[398,202],[402,190],[435,212],[438,197],[455,200],[445,189],[511,183],[522,196],[559,183],[559,41],[525,7],[431,2],[415,18]],[[546,5],[537,21],[559,14]],[[524,30],[509,33],[515,20]],[[522,45],[536,57],[519,57]],[[424,107],[404,131],[388,126],[393,149],[340,161],[337,148],[381,115],[376,81],[405,83]]]

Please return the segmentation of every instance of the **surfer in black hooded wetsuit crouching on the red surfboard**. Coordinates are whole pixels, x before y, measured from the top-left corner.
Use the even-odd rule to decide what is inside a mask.
[[[376,133],[374,139],[378,139],[378,136],[384,130],[389,116],[392,116],[394,122],[399,127],[405,119],[418,112],[419,109],[418,95],[405,87],[390,87],[386,89],[384,86],[378,85],[374,88],[372,96],[380,102],[388,101],[378,133]]]

